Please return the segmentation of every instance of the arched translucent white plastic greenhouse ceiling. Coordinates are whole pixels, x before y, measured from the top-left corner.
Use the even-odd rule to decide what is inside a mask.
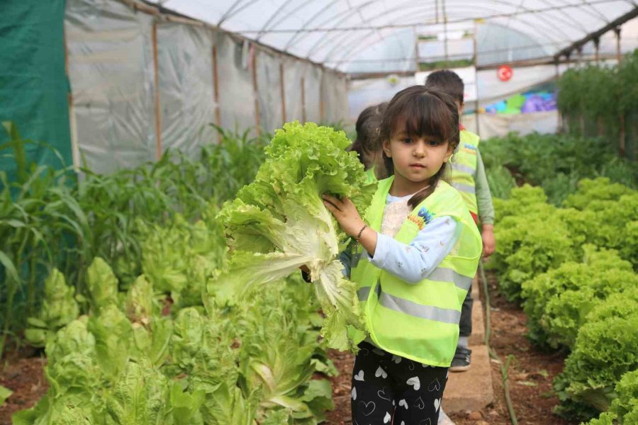
[[[487,43],[490,52],[509,49],[509,57],[513,53],[525,59],[551,57],[638,8],[637,2],[630,0],[153,0],[148,3],[345,72],[359,70],[357,63],[365,64],[368,71],[408,70],[418,61],[417,54],[419,60],[424,55],[435,59],[442,56],[441,47],[416,47],[415,40],[443,39],[446,60],[448,55],[464,57],[468,53],[459,45],[468,34],[477,34],[478,42],[498,39]],[[503,55],[496,58],[503,60]]]

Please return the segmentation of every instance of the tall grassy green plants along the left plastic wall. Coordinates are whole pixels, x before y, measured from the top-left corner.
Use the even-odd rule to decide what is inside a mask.
[[[100,256],[127,288],[141,273],[142,246],[155,225],[176,214],[194,222],[210,216],[257,174],[267,135],[217,128],[221,141],[202,147],[198,158],[164,152],[155,163],[113,174],[83,169],[52,169],[27,159],[15,126],[6,124],[10,140],[0,154],[16,162],[16,177],[0,171],[0,306],[2,336],[17,335],[35,314],[43,281],[60,270],[76,293],[86,295],[86,268]],[[9,152],[9,153],[5,153]],[[86,308],[86,305],[82,307]]]

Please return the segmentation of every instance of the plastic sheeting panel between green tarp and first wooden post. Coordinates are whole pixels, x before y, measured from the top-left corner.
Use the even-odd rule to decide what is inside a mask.
[[[105,173],[155,159],[151,16],[116,1],[67,0],[65,32],[86,166]]]

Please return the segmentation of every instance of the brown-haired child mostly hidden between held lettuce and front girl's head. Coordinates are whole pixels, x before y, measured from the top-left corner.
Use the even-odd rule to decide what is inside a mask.
[[[386,176],[381,161],[381,142],[379,141],[379,128],[386,108],[388,108],[387,102],[368,106],[359,114],[357,124],[354,126],[357,130],[357,140],[354,140],[350,150],[359,155],[359,161],[364,164],[366,175],[371,182]]]

